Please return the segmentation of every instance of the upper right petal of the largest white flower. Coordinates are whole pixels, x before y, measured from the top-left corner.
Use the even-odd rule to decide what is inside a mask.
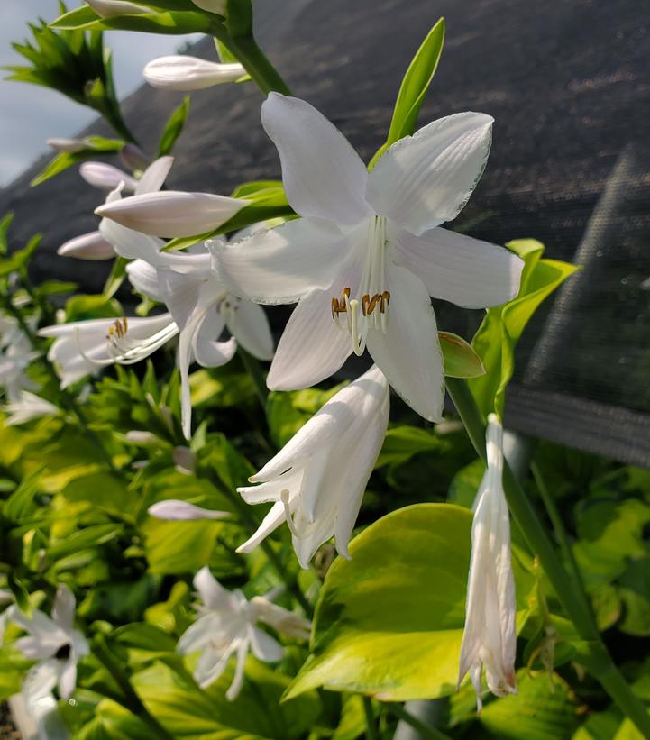
[[[448,115],[395,142],[371,171],[368,202],[412,233],[451,221],[481,178],[492,121],[481,113]]]

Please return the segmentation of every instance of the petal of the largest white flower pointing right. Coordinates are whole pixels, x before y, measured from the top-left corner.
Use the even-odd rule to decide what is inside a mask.
[[[419,237],[398,232],[395,257],[430,296],[464,308],[508,303],[519,292],[524,268],[524,260],[504,247],[439,228]]]

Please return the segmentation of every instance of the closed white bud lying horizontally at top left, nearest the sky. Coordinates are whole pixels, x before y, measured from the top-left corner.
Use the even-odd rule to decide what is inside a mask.
[[[243,77],[246,70],[241,64],[217,64],[206,59],[177,54],[153,59],[145,66],[143,74],[153,87],[190,91],[234,82]]]

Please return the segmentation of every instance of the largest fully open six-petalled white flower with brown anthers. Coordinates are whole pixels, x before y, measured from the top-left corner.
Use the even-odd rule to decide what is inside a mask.
[[[365,348],[418,414],[440,421],[444,365],[430,296],[484,308],[517,295],[523,261],[439,228],[465,205],[490,151],[492,119],[455,114],[394,143],[368,172],[311,105],[271,93],[262,123],[302,219],[222,248],[233,292],[295,303],[269,388],[307,388]]]

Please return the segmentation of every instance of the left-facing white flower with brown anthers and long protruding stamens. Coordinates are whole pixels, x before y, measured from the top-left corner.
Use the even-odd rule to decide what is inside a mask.
[[[54,337],[48,359],[59,373],[61,388],[107,365],[144,360],[178,333],[179,327],[169,314],[75,321],[46,326],[39,332]]]

